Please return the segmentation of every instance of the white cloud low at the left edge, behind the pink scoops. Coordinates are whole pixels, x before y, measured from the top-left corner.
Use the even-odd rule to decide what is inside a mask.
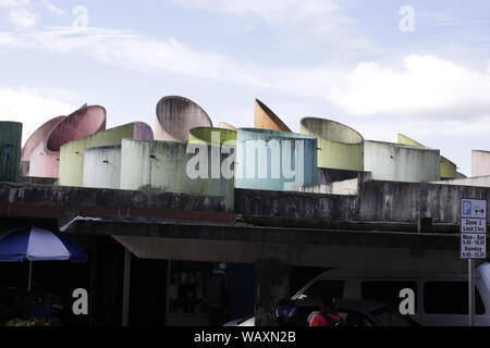
[[[45,122],[76,110],[75,96],[63,90],[0,87],[2,121],[23,123],[23,142]]]

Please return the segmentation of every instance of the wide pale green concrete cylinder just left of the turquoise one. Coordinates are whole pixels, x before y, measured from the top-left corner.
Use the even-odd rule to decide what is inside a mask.
[[[220,196],[226,198],[229,210],[233,210],[234,181],[233,176],[225,178],[221,173],[215,173],[211,159],[218,158],[222,163],[228,154],[220,153],[220,147],[192,145],[187,153],[187,144],[172,141],[142,141],[124,139],[122,141],[121,188],[134,190],[163,190],[182,194]],[[203,154],[203,161],[208,164],[203,177],[192,178],[187,165],[192,170],[199,169],[197,150]],[[194,161],[194,162],[193,162]],[[219,166],[219,170],[221,166]],[[198,174],[198,173],[196,173]],[[219,178],[211,178],[218,174]]]

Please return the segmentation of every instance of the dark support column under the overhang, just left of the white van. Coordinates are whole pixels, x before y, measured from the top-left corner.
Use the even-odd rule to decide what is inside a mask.
[[[255,320],[256,326],[274,326],[274,307],[290,298],[290,266],[279,260],[260,260],[255,263]]]

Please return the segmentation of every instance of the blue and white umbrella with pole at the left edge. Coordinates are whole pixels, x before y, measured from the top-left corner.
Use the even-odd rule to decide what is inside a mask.
[[[69,238],[50,231],[30,227],[0,234],[0,261],[29,261],[29,282],[33,273],[32,261],[86,262],[88,256]]]

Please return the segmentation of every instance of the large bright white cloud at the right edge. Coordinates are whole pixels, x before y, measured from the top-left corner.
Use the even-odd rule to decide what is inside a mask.
[[[471,117],[490,111],[490,73],[413,54],[396,69],[363,62],[328,100],[352,114]]]

